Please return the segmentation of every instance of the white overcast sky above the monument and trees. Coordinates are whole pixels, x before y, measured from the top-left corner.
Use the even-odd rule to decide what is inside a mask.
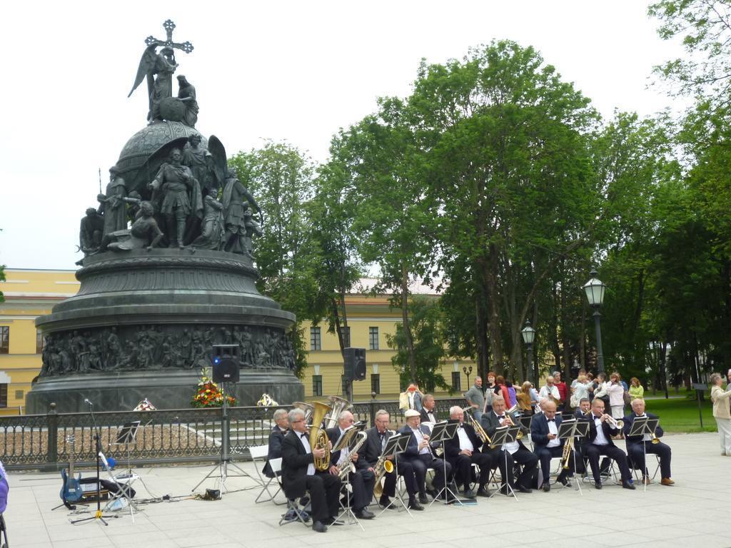
[[[642,0],[12,2],[0,50],[0,265],[74,269],[99,169],[145,124],[146,85],[127,98],[149,35],[172,19],[176,75],[197,90],[197,129],[229,155],[287,141],[327,160],[338,129],[407,96],[422,58],[444,63],[493,39],[532,45],[602,115],[675,107],[648,87],[681,55]],[[177,83],[173,83],[173,94]]]

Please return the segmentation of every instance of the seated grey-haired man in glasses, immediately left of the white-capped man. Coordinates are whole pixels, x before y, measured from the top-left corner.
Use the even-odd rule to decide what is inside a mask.
[[[376,411],[376,426],[368,430],[366,445],[364,445],[363,449],[361,449],[362,454],[360,455],[359,460],[366,463],[366,466],[368,467],[367,469],[373,473],[376,472],[374,470],[374,466],[378,463],[378,460],[383,453],[383,449],[385,449],[388,438],[394,434],[393,430],[388,430],[390,420],[388,411],[385,411],[384,409]],[[393,457],[389,457],[387,460],[393,462]],[[396,462],[398,463],[398,469],[391,473],[387,472],[385,475],[383,494],[381,495],[381,498],[379,498],[378,503],[384,508],[393,509],[390,497],[395,497],[396,495],[396,476],[400,475],[404,478],[406,492],[409,493],[409,509],[418,511],[423,510],[424,507],[421,506],[416,499],[418,488],[416,476],[414,476],[414,468],[412,468],[411,463],[405,459],[397,459]]]

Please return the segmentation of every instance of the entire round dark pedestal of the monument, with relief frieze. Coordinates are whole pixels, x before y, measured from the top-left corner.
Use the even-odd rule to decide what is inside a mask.
[[[36,324],[43,368],[29,413],[55,402],[61,413],[125,411],[147,397],[157,408],[189,408],[216,344],[238,347],[238,405],[267,393],[303,399],[287,329],[295,316],[257,291],[251,259],[222,251],[153,249],[84,259],[74,297]]]

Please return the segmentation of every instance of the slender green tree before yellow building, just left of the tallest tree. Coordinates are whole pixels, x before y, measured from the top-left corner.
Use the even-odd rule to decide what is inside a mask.
[[[434,247],[433,204],[416,166],[421,151],[399,99],[379,100],[379,112],[340,132],[330,148],[330,165],[349,181],[358,252],[380,270],[377,291],[392,292],[401,309],[407,370],[417,376],[416,349],[409,318],[409,286],[431,275]]]

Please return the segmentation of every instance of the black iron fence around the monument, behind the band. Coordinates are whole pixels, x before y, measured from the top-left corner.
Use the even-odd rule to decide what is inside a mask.
[[[451,406],[465,406],[463,398],[436,400],[436,415],[446,419]],[[277,408],[289,409],[291,406]],[[249,458],[248,447],[265,445],[276,408],[228,408],[228,438],[232,459]],[[385,409],[391,426],[404,424],[398,401],[356,402],[351,411],[357,421],[374,424],[376,411]],[[211,462],[221,454],[221,408],[162,409],[0,416],[0,460],[8,469],[58,470],[70,461],[80,466],[95,462],[94,426],[99,430],[102,452],[131,465]],[[134,444],[116,444],[121,428],[140,421]]]

